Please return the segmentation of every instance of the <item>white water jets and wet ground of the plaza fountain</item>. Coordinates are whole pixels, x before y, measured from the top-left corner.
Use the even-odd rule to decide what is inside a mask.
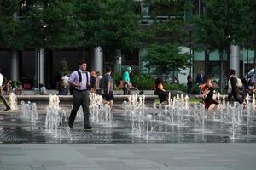
[[[173,99],[171,99],[171,94],[169,96],[166,105],[156,103],[145,105],[146,96],[131,95],[123,103],[123,110],[113,114],[108,103],[103,103],[102,96],[90,94],[90,122],[93,127],[90,132],[81,130],[81,128],[70,131],[67,127],[66,111],[57,109],[60,108],[58,99],[53,98],[49,102],[51,107],[45,111],[46,115],[38,115],[36,105],[22,102],[21,116],[23,118],[21,122],[18,120],[17,125],[14,125],[15,119],[10,119],[9,114],[6,114],[6,117],[7,120],[12,121],[12,127],[28,126],[24,129],[32,133],[29,135],[31,138],[37,139],[36,136],[39,134],[40,137],[45,138],[45,142],[256,141],[256,110],[255,99],[252,97],[247,97],[247,105],[238,103],[230,105],[225,102],[224,96],[217,94],[216,98],[220,103],[218,109],[215,112],[207,112],[203,104],[189,103],[188,96],[178,95],[173,96]],[[78,118],[83,117],[82,109],[79,109],[77,116]],[[26,119],[30,124],[22,123]],[[82,124],[82,120],[76,120]],[[44,122],[44,126],[42,126],[42,122]],[[1,126],[3,124],[9,126],[8,123],[3,123],[3,116],[0,123]],[[21,131],[23,132],[23,128]],[[34,141],[34,139],[29,141]]]

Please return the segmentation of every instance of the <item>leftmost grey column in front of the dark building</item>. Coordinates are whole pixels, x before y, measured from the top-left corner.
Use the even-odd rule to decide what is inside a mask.
[[[11,80],[19,81],[19,55],[18,51],[13,49],[11,54]]]

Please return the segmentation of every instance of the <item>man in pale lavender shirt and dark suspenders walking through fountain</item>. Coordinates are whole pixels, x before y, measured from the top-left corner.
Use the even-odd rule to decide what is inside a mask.
[[[79,61],[79,70],[73,71],[68,82],[73,86],[73,109],[71,110],[68,126],[73,129],[73,122],[77,116],[77,111],[82,105],[84,112],[84,129],[91,129],[90,127],[90,111],[89,111],[89,88],[90,88],[90,73],[86,71],[86,63]]]

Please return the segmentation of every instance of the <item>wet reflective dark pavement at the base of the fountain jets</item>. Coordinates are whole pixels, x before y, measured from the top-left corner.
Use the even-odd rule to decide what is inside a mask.
[[[111,126],[92,123],[92,130],[85,131],[83,119],[77,118],[74,129],[69,131],[63,123],[57,133],[45,130],[45,114],[39,114],[38,123],[33,124],[21,118],[20,114],[0,115],[1,143],[194,143],[194,142],[256,142],[256,126],[237,127],[236,139],[230,139],[231,124],[207,120],[205,128],[195,130],[194,125],[177,127],[160,122],[140,123],[140,131],[132,129],[132,119],[122,113],[115,113]],[[253,122],[256,119],[252,119]],[[193,122],[193,120],[189,120]],[[148,130],[147,130],[148,127]]]

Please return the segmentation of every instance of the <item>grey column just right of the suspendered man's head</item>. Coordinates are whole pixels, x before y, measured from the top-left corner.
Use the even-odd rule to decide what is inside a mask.
[[[94,48],[94,59],[92,69],[103,74],[103,51],[101,47]]]

